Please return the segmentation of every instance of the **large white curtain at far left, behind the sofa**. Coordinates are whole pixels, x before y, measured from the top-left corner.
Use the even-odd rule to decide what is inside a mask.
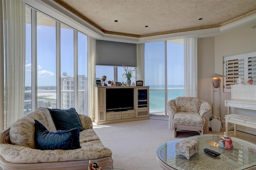
[[[5,53],[5,125],[24,115],[25,3],[3,0]]]

